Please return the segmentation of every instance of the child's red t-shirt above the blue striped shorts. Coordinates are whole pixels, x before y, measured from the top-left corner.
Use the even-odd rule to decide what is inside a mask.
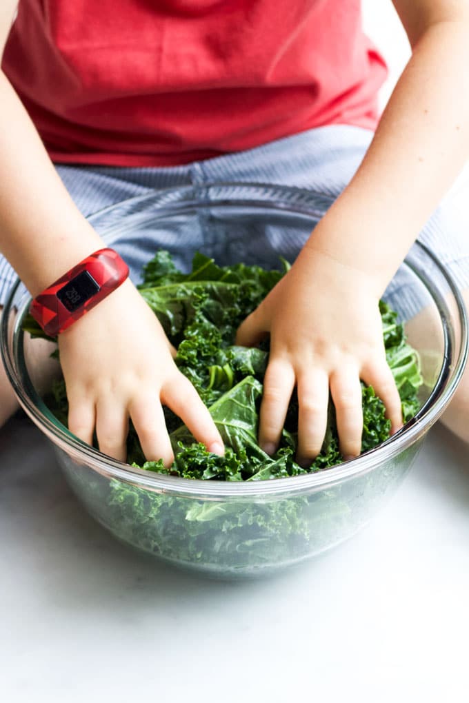
[[[375,127],[360,0],[20,0],[4,72],[56,162],[165,166]]]

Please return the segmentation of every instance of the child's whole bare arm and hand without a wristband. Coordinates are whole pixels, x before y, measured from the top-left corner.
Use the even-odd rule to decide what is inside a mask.
[[[298,457],[321,450],[329,393],[343,456],[361,447],[360,380],[401,403],[387,366],[378,301],[469,153],[469,1],[394,0],[412,58],[361,166],[287,275],[238,330],[270,333],[259,442],[274,451],[297,388]]]

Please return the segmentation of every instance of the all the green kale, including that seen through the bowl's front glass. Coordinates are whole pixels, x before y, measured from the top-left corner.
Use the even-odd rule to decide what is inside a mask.
[[[247,349],[234,344],[236,329],[264,299],[288,264],[278,271],[236,264],[217,266],[196,254],[190,273],[178,271],[168,252],[160,251],[143,271],[141,295],[162,323],[177,349],[176,364],[209,406],[226,446],[223,457],[212,454],[191,436],[181,420],[164,408],[174,463],[146,461],[131,425],[127,460],[162,475],[222,482],[252,482],[330,470],[339,464],[335,409],[328,406],[328,427],[321,453],[307,469],[295,461],[298,403],[293,393],[281,443],[274,456],[257,444],[262,380],[269,344]],[[404,420],[418,410],[422,383],[418,354],[406,343],[397,314],[380,302],[387,362],[401,396]],[[30,316],[24,328],[45,336]],[[390,434],[383,402],[363,383],[364,429],[361,451],[373,449]],[[65,424],[68,412],[63,381],[46,399]],[[95,437],[96,439],[96,437]],[[176,565],[209,574],[255,574],[297,562],[353,534],[373,515],[408,470],[417,446],[370,474],[307,495],[288,498],[200,500],[167,494],[97,475],[91,468],[61,461],[70,484],[92,515],[120,539]],[[60,458],[60,455],[59,455]],[[260,486],[259,486],[260,489]]]

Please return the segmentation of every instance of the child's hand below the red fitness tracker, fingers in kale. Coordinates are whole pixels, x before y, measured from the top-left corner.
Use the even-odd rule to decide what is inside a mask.
[[[195,439],[222,454],[209,411],[172,359],[158,319],[129,280],[58,336],[69,401],[68,425],[99,449],[126,460],[129,417],[147,460],[174,458],[162,404],[179,415]]]

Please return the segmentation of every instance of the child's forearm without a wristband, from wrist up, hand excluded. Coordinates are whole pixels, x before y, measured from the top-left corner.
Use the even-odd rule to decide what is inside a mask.
[[[469,25],[420,36],[361,166],[307,247],[366,272],[380,294],[469,154]]]

